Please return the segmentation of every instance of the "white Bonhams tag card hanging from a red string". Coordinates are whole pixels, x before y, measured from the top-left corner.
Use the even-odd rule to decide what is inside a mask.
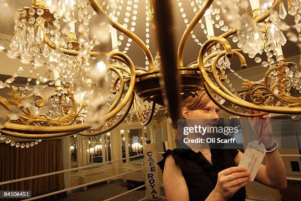
[[[254,181],[266,152],[267,150],[264,143],[259,144],[258,140],[249,142],[248,146],[246,147],[239,167],[245,167],[246,170],[250,172],[250,181]]]

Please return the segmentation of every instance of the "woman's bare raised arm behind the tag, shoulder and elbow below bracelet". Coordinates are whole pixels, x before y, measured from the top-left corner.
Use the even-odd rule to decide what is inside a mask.
[[[237,166],[242,156],[243,153],[239,151],[234,158]],[[266,166],[260,165],[255,181],[275,189],[287,187],[285,167],[278,150],[266,153]]]

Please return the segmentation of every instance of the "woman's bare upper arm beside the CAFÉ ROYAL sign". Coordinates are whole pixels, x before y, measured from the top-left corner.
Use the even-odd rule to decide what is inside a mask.
[[[165,159],[163,184],[166,199],[168,201],[189,201],[186,181],[180,167],[176,165],[175,160],[171,155],[167,156]]]

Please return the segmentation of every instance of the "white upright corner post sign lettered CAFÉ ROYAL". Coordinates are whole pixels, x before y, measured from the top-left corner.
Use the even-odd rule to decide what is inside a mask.
[[[144,148],[145,184],[148,201],[161,199],[158,173],[158,153],[154,144],[146,144]]]

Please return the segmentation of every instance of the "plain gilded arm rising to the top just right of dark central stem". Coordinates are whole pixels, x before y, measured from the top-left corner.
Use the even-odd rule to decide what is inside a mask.
[[[185,32],[182,35],[180,45],[178,48],[178,67],[183,67],[183,52],[184,52],[184,45],[186,43],[186,40],[190,34],[190,32],[193,30],[193,28],[198,24],[198,21],[203,17],[206,10],[210,7],[213,0],[206,0],[203,7],[199,10],[199,12],[194,16],[194,18],[189,23],[189,26],[186,28]]]

